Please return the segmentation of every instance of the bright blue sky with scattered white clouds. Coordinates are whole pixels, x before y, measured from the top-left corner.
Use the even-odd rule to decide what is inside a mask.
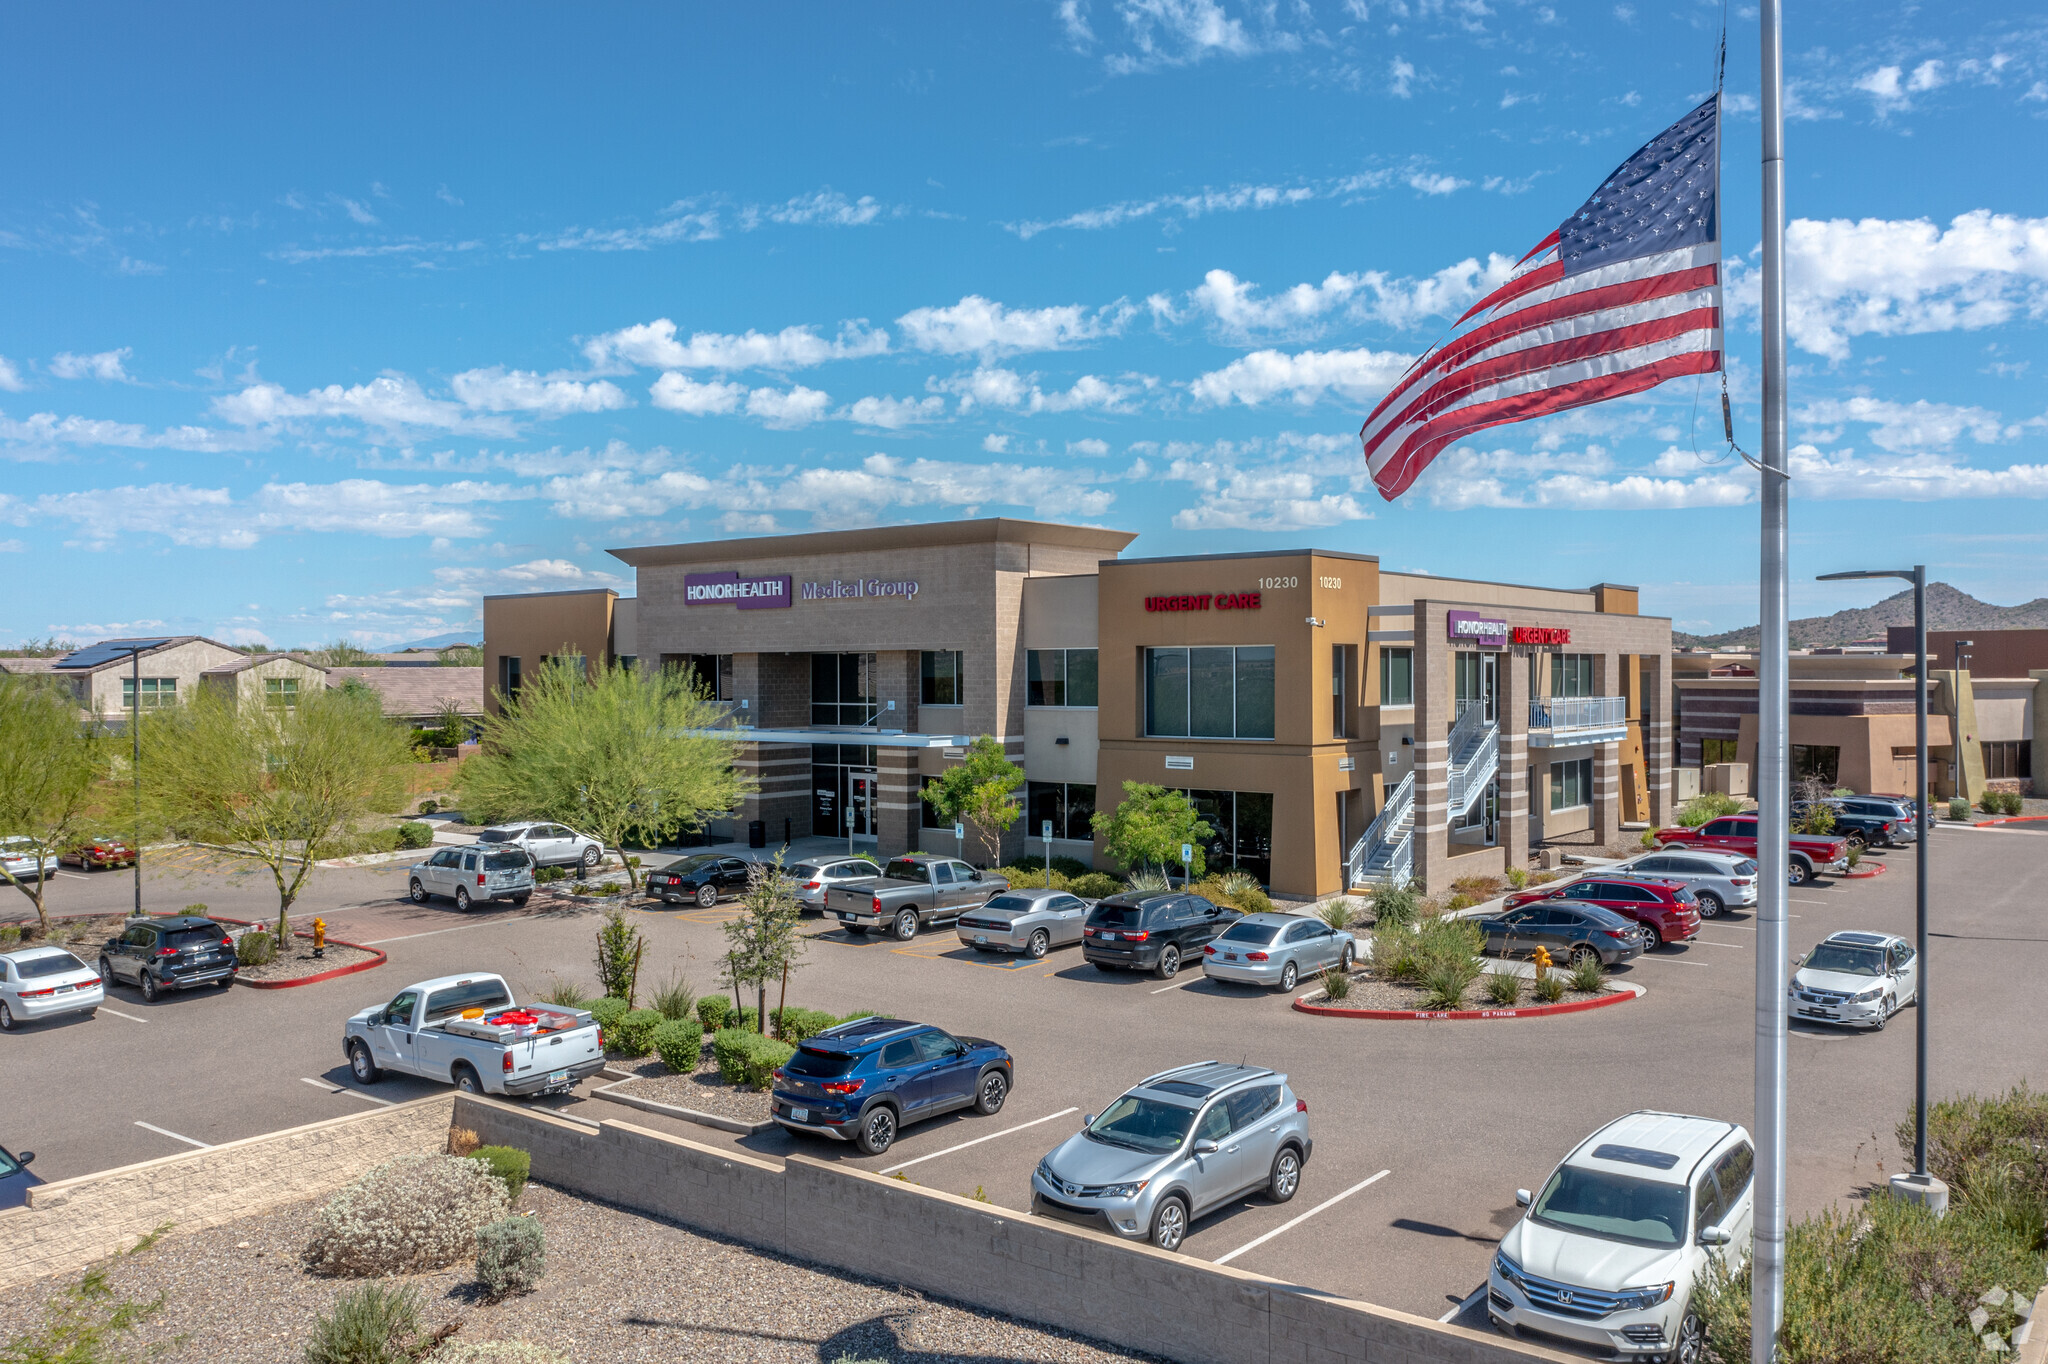
[[[1712,381],[1485,432],[1395,504],[1356,442],[1710,90],[1720,14],[16,8],[0,643],[397,643],[483,592],[631,590],[616,545],[991,514],[1753,623]],[[1800,4],[1786,39],[1794,606],[1874,600],[1804,582],[1872,559],[2048,594],[2048,16]]]

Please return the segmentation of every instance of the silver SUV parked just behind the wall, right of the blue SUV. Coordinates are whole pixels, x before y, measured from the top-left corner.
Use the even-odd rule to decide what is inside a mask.
[[[1315,1141],[1286,1075],[1198,1061],[1147,1075],[1030,1176],[1044,1217],[1178,1251],[1188,1223],[1264,1188],[1286,1202]]]

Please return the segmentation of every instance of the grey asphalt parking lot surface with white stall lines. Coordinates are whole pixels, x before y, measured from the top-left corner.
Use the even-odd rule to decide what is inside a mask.
[[[2042,834],[1937,829],[1929,989],[1933,1092],[1995,1092],[2038,1069],[2048,1022],[2034,1008],[2048,965],[2036,879]],[[1872,881],[1790,891],[1792,950],[1829,932],[1913,932],[1915,852],[1880,860]],[[297,989],[197,991],[143,1006],[111,993],[100,1016],[0,1038],[10,1094],[0,1143],[35,1149],[45,1180],[215,1145],[362,1104],[426,1094],[416,1079],[348,1081],[346,1014],[451,971],[506,975],[530,995],[553,977],[594,981],[596,907],[498,909],[403,901],[401,866],[324,870],[297,909],[330,936],[389,952],[377,971]],[[266,881],[225,881],[199,860],[160,862],[145,885],[158,911],[205,901],[213,913],[266,918]],[[55,913],[119,911],[125,872],[68,872]],[[649,950],[643,987],[672,969],[715,989],[717,909],[637,907]],[[952,930],[909,944],[854,938],[807,920],[811,946],[791,1004],[858,1006],[1006,1045],[1016,1092],[993,1118],[954,1114],[911,1126],[883,1157],[772,1131],[733,1137],[588,1098],[575,1116],[659,1126],[760,1155],[803,1149],[901,1171],[954,1194],[1028,1206],[1028,1176],[1081,1114],[1130,1081],[1200,1059],[1286,1071],[1309,1102],[1315,1157],[1284,1206],[1245,1200],[1198,1221],[1184,1253],[1430,1317],[1485,1278],[1493,1241],[1518,1214],[1513,1190],[1608,1118],[1665,1108],[1749,1122],[1755,922],[1726,913],[1698,940],[1624,971],[1647,995],[1618,1008],[1536,1020],[1370,1022],[1311,1018],[1288,999],[1202,979],[1098,973],[1077,948],[1044,961],[977,956]],[[80,954],[90,946],[80,944]],[[1898,1169],[1892,1126],[1913,1096],[1913,1016],[1880,1034],[1792,1028],[1790,1196],[1812,1210]],[[2038,1075],[2032,1075],[2038,1079]]]

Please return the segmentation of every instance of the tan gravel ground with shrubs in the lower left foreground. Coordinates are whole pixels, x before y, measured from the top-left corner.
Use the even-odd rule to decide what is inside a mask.
[[[426,1298],[424,1325],[461,1319],[457,1341],[526,1339],[575,1364],[997,1364],[1151,1360],[993,1313],[764,1255],[561,1190],[528,1184],[520,1210],[547,1231],[547,1278],[535,1292],[485,1303],[473,1266],[383,1280]],[[113,1262],[113,1288],[164,1296],[137,1341],[176,1341],[162,1358],[205,1364],[299,1360],[317,1315],[356,1280],[309,1274],[301,1251],[317,1204],[172,1231],[154,1249]],[[0,1341],[41,1321],[70,1280],[0,1298]],[[139,1354],[139,1352],[137,1352]]]

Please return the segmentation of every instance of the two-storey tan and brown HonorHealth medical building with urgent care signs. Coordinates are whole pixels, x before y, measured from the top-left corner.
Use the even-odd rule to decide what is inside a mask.
[[[616,549],[631,600],[485,598],[485,668],[690,668],[758,784],[717,832],[770,844],[954,852],[918,793],[983,733],[1028,778],[1004,856],[1051,823],[1055,856],[1110,866],[1092,815],[1153,782],[1202,811],[1210,868],[1282,895],[1436,889],[1663,817],[1671,629],[1632,588],[1133,539],[991,518]]]

